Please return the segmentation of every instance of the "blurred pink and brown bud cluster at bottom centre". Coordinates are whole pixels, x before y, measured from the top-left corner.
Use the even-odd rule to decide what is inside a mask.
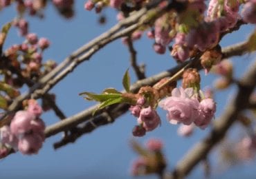
[[[152,173],[161,175],[163,173],[166,162],[162,152],[163,143],[161,140],[150,139],[146,147],[135,142],[132,145],[134,150],[140,154],[131,166],[133,176],[144,176]]]

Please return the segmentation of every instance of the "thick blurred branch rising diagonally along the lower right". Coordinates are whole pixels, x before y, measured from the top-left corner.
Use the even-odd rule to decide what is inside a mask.
[[[165,178],[183,178],[205,158],[212,147],[225,136],[226,131],[235,122],[239,112],[248,107],[250,95],[255,89],[256,61],[239,81],[239,89],[235,98],[226,106],[225,112],[218,120],[213,123],[210,134],[197,143],[188,153],[178,162],[174,171],[166,175]]]

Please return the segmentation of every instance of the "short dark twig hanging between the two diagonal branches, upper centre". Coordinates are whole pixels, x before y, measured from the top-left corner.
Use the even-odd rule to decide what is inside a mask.
[[[136,60],[137,52],[134,49],[134,44],[132,43],[131,36],[127,37],[127,45],[128,45],[130,56],[131,56],[130,57],[131,66],[134,68],[134,72],[136,73],[138,80],[142,80],[146,78],[146,76],[145,76],[143,67],[137,64],[137,60]]]

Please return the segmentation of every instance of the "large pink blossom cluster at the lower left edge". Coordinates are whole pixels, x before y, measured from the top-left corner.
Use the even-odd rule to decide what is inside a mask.
[[[27,101],[25,110],[16,112],[10,126],[5,125],[0,129],[0,151],[4,157],[10,149],[19,150],[21,154],[37,154],[44,143],[44,121],[39,118],[42,107],[37,101]]]

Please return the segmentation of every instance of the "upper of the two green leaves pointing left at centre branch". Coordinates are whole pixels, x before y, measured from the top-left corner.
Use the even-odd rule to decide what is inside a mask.
[[[89,101],[99,101],[99,102],[104,102],[107,101],[109,99],[113,99],[113,98],[119,98],[120,96],[122,96],[122,94],[95,94],[95,93],[90,93],[90,92],[82,92],[80,93],[80,95],[87,95],[84,98],[86,98],[86,100]]]

